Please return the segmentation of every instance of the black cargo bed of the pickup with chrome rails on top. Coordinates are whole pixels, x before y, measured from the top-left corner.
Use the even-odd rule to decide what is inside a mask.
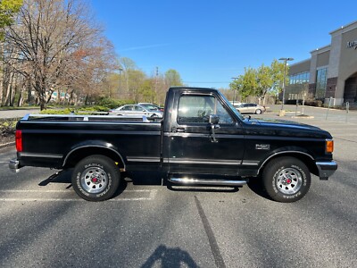
[[[71,167],[75,155],[84,154],[90,145],[97,153],[112,150],[124,169],[137,161],[153,166],[160,163],[160,121],[137,116],[29,114],[17,125],[23,141],[18,159],[23,165]]]

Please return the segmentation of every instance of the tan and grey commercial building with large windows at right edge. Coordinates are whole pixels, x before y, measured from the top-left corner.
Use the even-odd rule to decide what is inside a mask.
[[[332,105],[357,102],[357,21],[331,31],[331,44],[291,64],[286,100],[313,98]]]

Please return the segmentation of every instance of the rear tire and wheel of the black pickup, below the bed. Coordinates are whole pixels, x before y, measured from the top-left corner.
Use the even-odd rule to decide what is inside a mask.
[[[111,158],[90,155],[77,163],[71,182],[79,197],[87,201],[104,201],[118,189],[120,170]]]

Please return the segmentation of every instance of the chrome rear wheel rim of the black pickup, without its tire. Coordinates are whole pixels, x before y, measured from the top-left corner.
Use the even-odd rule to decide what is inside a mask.
[[[89,167],[80,177],[81,187],[91,194],[102,192],[108,185],[108,181],[106,172],[100,167]]]

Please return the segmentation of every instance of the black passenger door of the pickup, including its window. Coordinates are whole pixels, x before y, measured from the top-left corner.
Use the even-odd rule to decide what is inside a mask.
[[[213,94],[183,94],[171,113],[170,173],[237,175],[244,155],[243,130],[228,106]],[[230,111],[230,112],[229,112]],[[211,114],[219,116],[212,131]]]

